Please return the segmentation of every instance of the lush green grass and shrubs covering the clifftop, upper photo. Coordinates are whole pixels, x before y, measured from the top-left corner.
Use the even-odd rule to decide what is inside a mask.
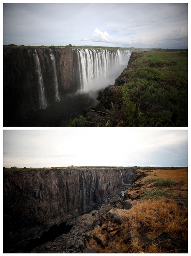
[[[120,104],[126,102],[121,121],[115,125],[116,118],[102,107],[100,111],[106,115],[81,116],[71,120],[69,126],[187,126],[187,51],[161,49],[138,54],[139,58],[122,72],[122,79],[128,79],[127,82],[118,86],[122,97],[114,103],[117,116]],[[114,115],[111,105],[107,109]]]

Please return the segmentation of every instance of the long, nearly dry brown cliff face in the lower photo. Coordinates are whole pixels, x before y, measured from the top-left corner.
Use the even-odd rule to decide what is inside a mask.
[[[124,181],[135,170],[121,169]],[[14,245],[78,216],[122,187],[117,169],[4,171],[4,239]]]

